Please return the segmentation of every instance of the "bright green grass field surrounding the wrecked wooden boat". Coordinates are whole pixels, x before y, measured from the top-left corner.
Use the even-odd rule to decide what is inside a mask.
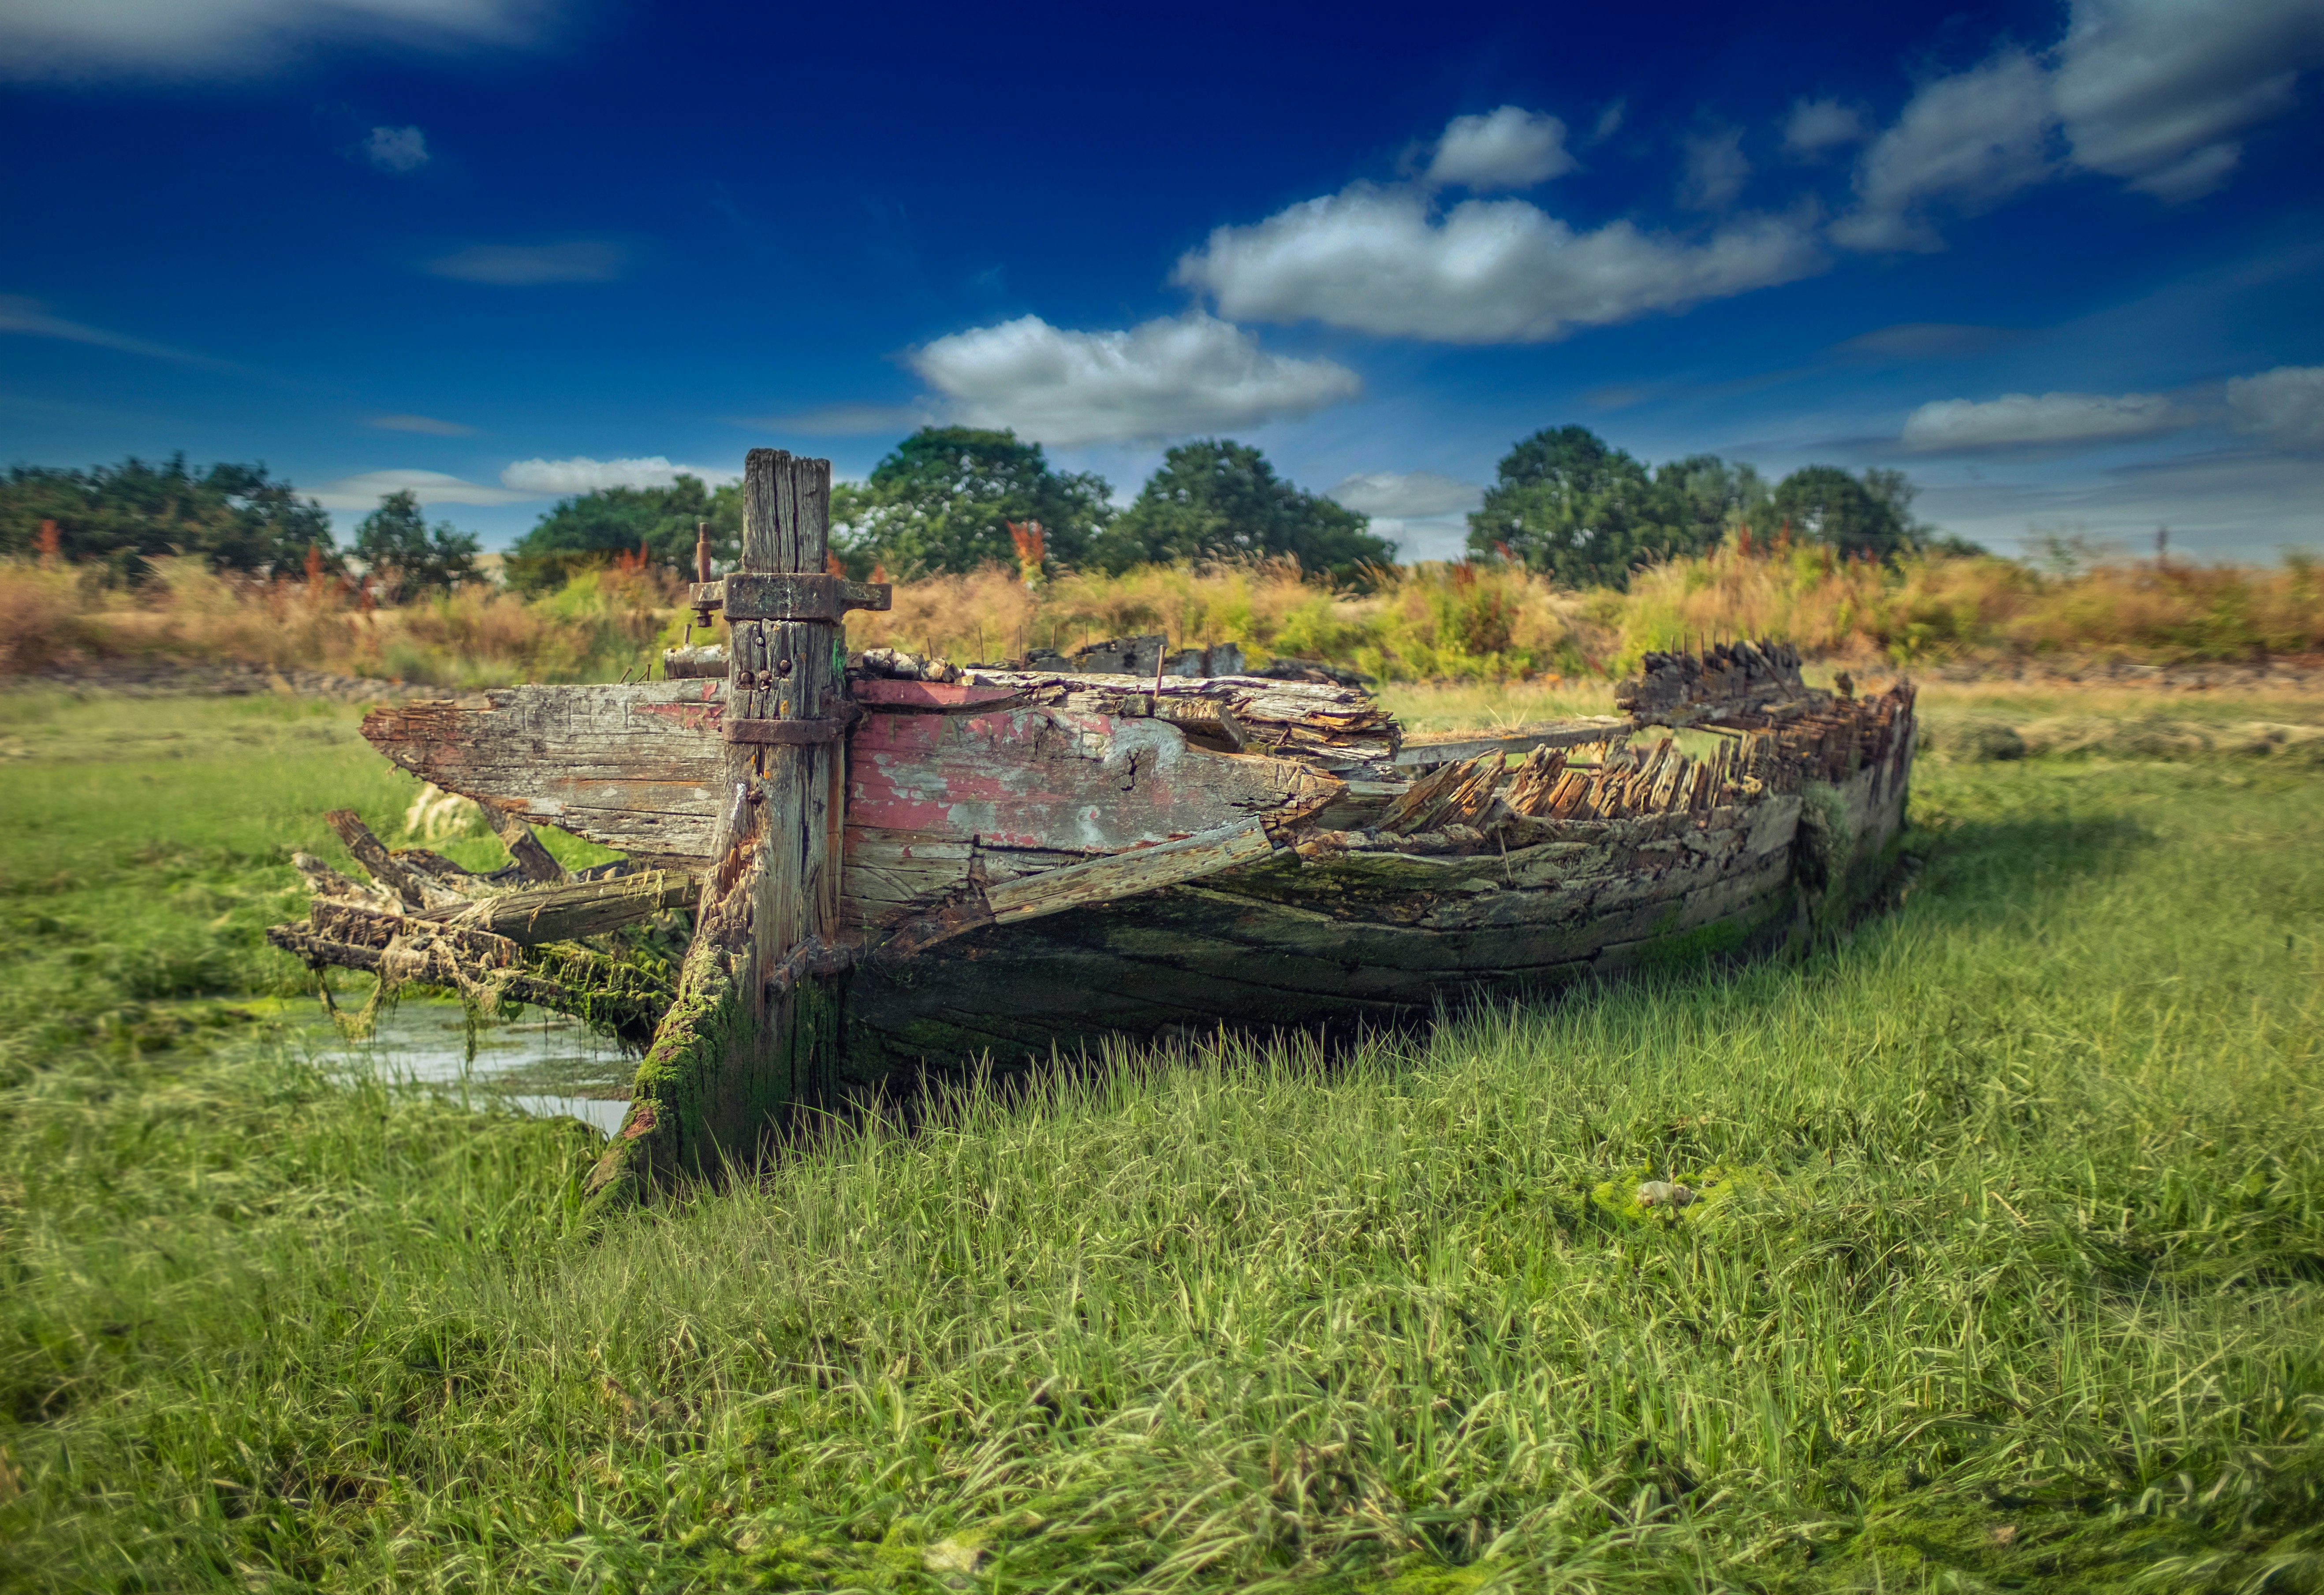
[[[1473,693],[1397,707],[1545,711]],[[2324,1588],[2315,767],[1931,758],[1803,963],[964,1083],[590,1232],[581,1125],[270,1023],[288,849],[411,795],[351,725],[0,698],[0,1586]]]

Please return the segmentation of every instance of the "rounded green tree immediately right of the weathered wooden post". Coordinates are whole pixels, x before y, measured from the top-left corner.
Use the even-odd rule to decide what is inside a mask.
[[[1095,472],[1050,470],[1041,444],[1016,432],[927,425],[871,467],[832,488],[832,542],[858,574],[967,572],[1016,565],[1009,521],[1039,521],[1048,558],[1078,565],[1113,518],[1113,488]]]

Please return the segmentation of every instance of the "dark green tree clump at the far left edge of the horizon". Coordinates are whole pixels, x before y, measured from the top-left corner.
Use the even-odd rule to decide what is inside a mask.
[[[0,553],[33,549],[42,521],[56,521],[65,558],[109,565],[128,581],[170,553],[253,577],[302,570],[309,549],[325,567],[339,565],[330,516],[265,465],[218,463],[198,474],[184,453],[160,465],[137,456],[88,470],[16,465],[0,481]]]

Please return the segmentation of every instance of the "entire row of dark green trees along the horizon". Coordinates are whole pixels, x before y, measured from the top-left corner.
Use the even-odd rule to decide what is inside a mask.
[[[1903,472],[1810,465],[1769,486],[1715,453],[1648,465],[1583,425],[1545,428],[1501,458],[1469,516],[1469,553],[1538,570],[1566,586],[1624,586],[1643,565],[1703,553],[1741,528],[1896,558],[1950,546],[1913,518]],[[579,567],[644,551],[688,570],[695,528],[732,563],[741,488],[679,477],[665,488],[602,488],[562,498],[507,556],[521,591],[551,591]],[[1260,449],[1227,437],[1178,444],[1118,507],[1097,472],[1057,470],[1016,432],[932,425],[897,444],[860,484],[832,488],[832,549],[855,577],[969,572],[1016,565],[1011,523],[1041,525],[1053,570],[1122,572],[1218,558],[1292,558],[1343,584],[1394,563],[1397,546],[1346,505],[1285,481]],[[386,602],[476,577],[476,537],[428,523],[411,493],[388,493],[342,553],[330,516],[265,465],[195,472],[177,453],[158,465],[91,470],[19,465],[0,481],[0,553],[30,553],[51,525],[63,558],[142,579],[163,553],[218,570],[346,572],[358,560]]]

